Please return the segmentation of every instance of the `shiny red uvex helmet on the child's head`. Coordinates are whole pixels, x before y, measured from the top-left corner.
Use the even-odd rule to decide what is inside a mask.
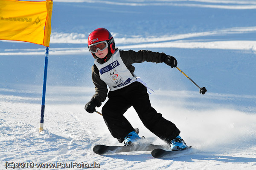
[[[111,52],[112,54],[115,52],[114,38],[112,37],[111,33],[105,28],[98,28],[90,33],[88,37],[88,47],[91,44],[98,43],[100,41],[107,41],[109,52]]]

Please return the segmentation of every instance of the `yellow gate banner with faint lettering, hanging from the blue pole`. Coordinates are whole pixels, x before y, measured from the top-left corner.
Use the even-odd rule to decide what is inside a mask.
[[[0,40],[49,46],[52,4],[52,0],[0,0]]]

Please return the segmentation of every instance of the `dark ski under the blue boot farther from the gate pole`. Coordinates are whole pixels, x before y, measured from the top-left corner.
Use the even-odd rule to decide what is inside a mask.
[[[177,155],[179,153],[183,153],[189,150],[191,147],[186,147],[184,150],[165,150],[162,148],[156,148],[151,151],[151,155],[154,158],[169,158],[170,156]]]

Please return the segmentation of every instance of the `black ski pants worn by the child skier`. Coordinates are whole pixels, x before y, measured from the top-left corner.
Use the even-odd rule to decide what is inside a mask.
[[[180,134],[175,124],[162,117],[162,114],[151,107],[147,88],[140,82],[133,82],[122,89],[110,91],[108,101],[102,108],[102,115],[111,135],[120,143],[128,133],[134,131],[124,113],[134,107],[146,128],[166,143]]]

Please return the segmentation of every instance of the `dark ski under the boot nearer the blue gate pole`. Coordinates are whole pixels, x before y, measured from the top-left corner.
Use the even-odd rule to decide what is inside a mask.
[[[103,154],[113,154],[121,152],[133,152],[133,151],[151,151],[157,148],[166,149],[170,148],[169,144],[163,145],[135,145],[135,146],[106,146],[106,145],[96,145],[93,147],[93,152],[99,155]]]

